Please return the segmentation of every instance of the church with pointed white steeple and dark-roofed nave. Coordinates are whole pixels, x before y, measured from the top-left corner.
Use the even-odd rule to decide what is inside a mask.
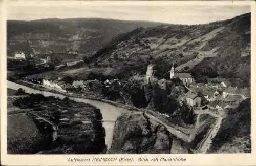
[[[195,82],[195,79],[190,73],[176,73],[174,71],[174,64],[172,69],[170,70],[170,78],[180,78],[185,86],[188,86],[192,82]]]

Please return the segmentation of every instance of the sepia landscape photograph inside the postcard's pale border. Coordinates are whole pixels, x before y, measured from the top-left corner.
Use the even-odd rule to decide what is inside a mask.
[[[12,2],[6,36],[7,154],[252,152],[250,5]]]

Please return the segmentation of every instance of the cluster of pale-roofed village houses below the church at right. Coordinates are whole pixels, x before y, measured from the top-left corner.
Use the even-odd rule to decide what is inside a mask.
[[[239,89],[231,87],[229,81],[220,84],[191,84],[190,91],[183,96],[189,106],[200,107],[202,98],[207,100],[210,109],[223,111],[229,108],[237,108],[239,103],[250,97],[248,88]],[[200,95],[201,93],[201,95]]]

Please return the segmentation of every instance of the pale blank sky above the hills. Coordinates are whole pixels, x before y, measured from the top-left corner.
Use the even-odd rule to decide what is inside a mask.
[[[33,6],[15,4],[7,8],[7,19],[35,20],[42,18],[111,18],[146,20],[170,24],[205,24],[233,18],[250,12],[250,6],[238,5],[54,5]]]

